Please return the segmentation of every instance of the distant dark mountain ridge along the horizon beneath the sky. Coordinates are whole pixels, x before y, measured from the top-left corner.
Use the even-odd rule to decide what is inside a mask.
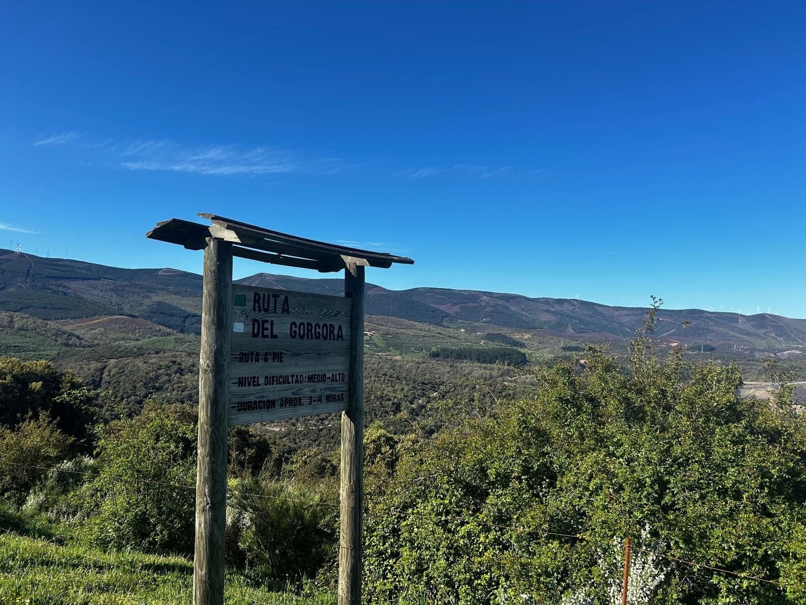
[[[239,283],[340,295],[341,279],[256,273]],[[39,319],[100,315],[140,317],[177,332],[198,332],[202,277],[178,269],[119,269],[81,261],[0,252],[0,311]],[[367,284],[368,315],[434,325],[451,323],[542,330],[571,340],[627,340],[646,308],[609,307],[569,298],[529,298],[481,290],[388,290]],[[806,352],[806,320],[766,313],[665,310],[656,336],[670,344],[721,350]],[[683,328],[684,322],[691,322]]]

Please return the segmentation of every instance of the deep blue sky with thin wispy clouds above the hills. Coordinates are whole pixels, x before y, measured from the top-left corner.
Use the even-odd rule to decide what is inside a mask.
[[[229,5],[0,4],[0,245],[199,272],[144,234],[210,211],[389,288],[806,317],[806,3]]]

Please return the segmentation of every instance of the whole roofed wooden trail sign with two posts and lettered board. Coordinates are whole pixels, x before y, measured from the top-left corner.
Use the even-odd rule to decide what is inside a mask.
[[[218,215],[170,219],[153,240],[204,250],[194,605],[224,602],[227,427],[342,412],[339,605],[361,602],[364,267],[406,257],[289,236]],[[232,257],[344,269],[344,297],[232,283]]]

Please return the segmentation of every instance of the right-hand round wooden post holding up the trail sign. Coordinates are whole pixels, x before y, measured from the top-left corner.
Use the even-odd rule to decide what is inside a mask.
[[[342,468],[339,532],[339,605],[361,603],[364,533],[364,266],[345,258],[344,295],[350,317],[350,405],[342,412]],[[364,261],[366,262],[366,261]]]

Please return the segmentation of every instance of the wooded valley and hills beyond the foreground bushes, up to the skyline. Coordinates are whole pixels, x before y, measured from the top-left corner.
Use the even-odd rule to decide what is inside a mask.
[[[238,282],[318,294],[340,294],[343,288],[340,279],[270,273]],[[0,355],[71,369],[105,392],[110,409],[118,411],[139,411],[153,396],[193,402],[201,294],[202,277],[176,269],[118,269],[6,252],[0,254]],[[586,344],[607,346],[625,362],[629,339],[647,311],[374,284],[367,285],[366,300],[368,416],[387,424],[398,422],[401,413],[401,422],[427,419],[426,404],[468,397],[468,384],[480,378],[493,395],[528,392],[534,388],[530,368],[584,360]],[[661,309],[654,340],[669,351],[686,347],[692,357],[736,364],[746,382],[769,379],[767,358],[791,379],[806,379],[802,319]],[[321,432],[327,422],[294,425]],[[281,425],[280,432],[291,426]]]

